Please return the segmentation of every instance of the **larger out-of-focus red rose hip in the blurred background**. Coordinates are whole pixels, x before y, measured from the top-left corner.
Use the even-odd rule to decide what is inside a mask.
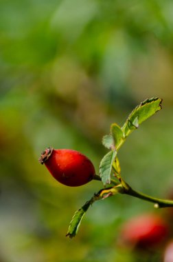
[[[143,214],[126,222],[122,229],[122,240],[135,248],[153,248],[168,235],[168,225],[160,216]]]

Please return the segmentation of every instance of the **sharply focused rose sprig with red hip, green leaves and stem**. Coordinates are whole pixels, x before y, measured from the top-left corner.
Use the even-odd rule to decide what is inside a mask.
[[[106,199],[118,193],[150,201],[154,203],[154,208],[173,207],[172,200],[157,199],[133,190],[122,177],[119,159],[117,158],[119,148],[122,147],[128,135],[137,130],[143,121],[146,121],[146,119],[161,110],[161,103],[162,99],[158,97],[146,99],[132,110],[122,127],[117,125],[117,123],[111,125],[110,133],[106,134],[102,139],[102,144],[109,151],[100,161],[100,174],[95,174],[93,163],[80,152],[69,149],[54,150],[53,148],[47,148],[43,151],[39,159],[40,163],[45,164],[52,176],[60,183],[76,187],[92,180],[97,180],[101,181],[104,185],[104,188],[93,194],[91,199],[75,212],[69,225],[67,236],[70,238],[76,236],[84,214],[95,201]],[[107,185],[108,187],[106,187]],[[150,222],[152,223],[153,220]],[[157,235],[158,228],[154,228],[153,232],[153,239],[157,239],[159,237]],[[145,237],[147,239],[148,235]],[[145,240],[143,239],[139,243],[145,243]]]

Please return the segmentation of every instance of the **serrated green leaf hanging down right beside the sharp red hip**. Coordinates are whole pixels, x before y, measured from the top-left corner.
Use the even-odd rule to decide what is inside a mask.
[[[104,185],[106,185],[106,183],[111,183],[111,170],[116,155],[117,151],[111,150],[105,154],[100,162],[100,177]]]

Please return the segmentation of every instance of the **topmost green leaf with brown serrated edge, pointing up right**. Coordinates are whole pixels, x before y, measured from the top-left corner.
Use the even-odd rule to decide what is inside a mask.
[[[162,99],[155,97],[152,99],[146,99],[140,103],[140,105],[137,105],[137,107],[132,110],[126,120],[126,123],[122,127],[124,138],[127,137],[133,130],[137,129],[143,121],[151,117],[157,111],[161,110],[161,102]]]

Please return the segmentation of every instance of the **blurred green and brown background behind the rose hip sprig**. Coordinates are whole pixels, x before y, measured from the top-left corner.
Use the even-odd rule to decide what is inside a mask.
[[[102,188],[57,183],[38,163],[47,146],[79,150],[95,169],[102,136],[150,97],[163,110],[119,151],[133,188],[165,197],[173,182],[173,2],[0,1],[0,261],[136,261],[119,228],[153,205],[118,195],[94,203],[75,239],[73,212]],[[159,252],[159,251],[158,251]],[[138,260],[139,261],[139,260]]]

